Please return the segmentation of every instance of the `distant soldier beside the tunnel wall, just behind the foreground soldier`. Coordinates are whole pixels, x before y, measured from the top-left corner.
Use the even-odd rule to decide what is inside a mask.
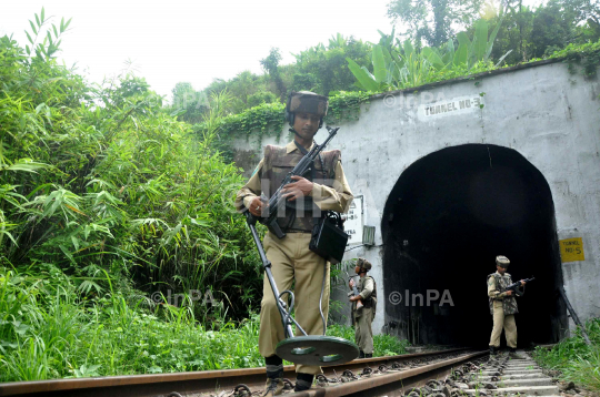
[[[377,307],[377,285],[374,278],[367,275],[371,269],[371,263],[359,257],[354,272],[360,276],[357,288],[359,295],[351,296],[352,302],[352,323],[354,324],[354,339],[360,349],[359,358],[369,358],[373,356],[373,330],[371,323],[373,322]],[[350,278],[350,289],[356,285]],[[349,296],[352,293],[348,294]],[[358,304],[362,303],[362,307],[358,308]]]

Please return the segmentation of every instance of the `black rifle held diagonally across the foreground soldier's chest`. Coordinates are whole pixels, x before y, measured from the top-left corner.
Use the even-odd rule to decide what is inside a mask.
[[[269,227],[269,231],[274,233],[274,235],[278,238],[286,237],[286,233],[283,233],[283,231],[281,230],[281,227],[279,227],[279,224],[277,223],[277,215],[278,215],[279,208],[282,205],[286,205],[286,200],[287,200],[286,197],[282,197],[283,193],[281,193],[281,191],[283,190],[283,186],[286,186],[289,183],[294,182],[292,180],[292,176],[303,176],[306,174],[306,172],[310,169],[314,159],[317,159],[319,153],[321,153],[321,151],[329,143],[329,141],[331,141],[333,136],[336,136],[339,129],[340,129],[339,126],[334,129],[327,126],[327,130],[329,131],[329,136],[327,138],[327,140],[320,145],[316,144],[314,146],[312,146],[310,152],[308,152],[302,157],[302,160],[300,160],[298,164],[296,164],[293,170],[286,175],[283,181],[281,182],[281,186],[279,186],[279,189],[273,193],[271,198],[269,198],[269,204],[266,210],[267,214],[263,213],[263,215],[259,218],[252,215],[250,211],[246,212],[246,220],[249,225],[256,225],[257,221],[259,221],[260,223]]]

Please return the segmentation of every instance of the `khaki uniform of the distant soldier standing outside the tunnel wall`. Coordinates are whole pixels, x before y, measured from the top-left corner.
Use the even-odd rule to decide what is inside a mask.
[[[373,322],[377,306],[377,292],[373,277],[360,277],[357,289],[364,306],[360,311],[357,311],[357,302],[352,302],[352,322],[356,327],[354,340],[361,352],[373,354],[373,330],[371,323]],[[350,296],[352,293],[348,295]]]

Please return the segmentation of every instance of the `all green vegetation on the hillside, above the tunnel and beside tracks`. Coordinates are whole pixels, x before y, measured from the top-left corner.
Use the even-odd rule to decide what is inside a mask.
[[[570,1],[579,4],[571,21],[587,24],[564,22],[563,37],[581,34],[547,50],[564,48],[554,57],[592,75],[598,12],[588,0]],[[526,11],[506,18],[523,28]],[[501,58],[493,38],[508,31],[501,18],[456,39],[441,31],[450,35],[439,47],[393,32],[377,44],[338,34],[291,65],[272,49],[263,75],[242,72],[201,91],[179,83],[170,106],[129,70],[96,85],[60,65],[70,21],[52,24],[43,10],[24,48],[0,38],[0,381],[261,365],[262,272],[232,208],[244,180],[228,144],[279,134],[289,90],[329,95],[327,121],[340,123],[357,120],[374,92],[492,70],[490,60]],[[539,51],[528,52],[527,32],[519,30],[513,52],[529,61]],[[363,73],[358,84],[354,72]],[[207,292],[214,304],[197,301]],[[590,324],[596,347],[563,345],[576,364],[552,352],[540,359],[597,381],[598,322]],[[328,334],[353,339],[351,327]],[[374,345],[380,356],[404,353],[407,342],[383,335]]]

